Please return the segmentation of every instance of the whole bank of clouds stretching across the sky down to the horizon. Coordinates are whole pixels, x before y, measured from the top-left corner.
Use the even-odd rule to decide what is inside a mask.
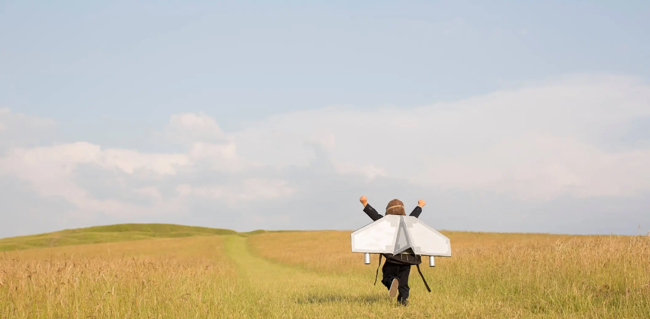
[[[14,225],[0,236],[55,230],[26,212],[70,227],[355,229],[367,223],[362,194],[379,208],[428,199],[434,213],[423,218],[441,229],[650,227],[643,79],[565,77],[417,108],[331,106],[233,132],[220,129],[226,120],[171,114],[166,137],[185,151],[155,154],[92,141],[38,145],[53,121],[0,110],[0,187],[16,203],[2,213]],[[59,205],[42,209],[48,201]]]

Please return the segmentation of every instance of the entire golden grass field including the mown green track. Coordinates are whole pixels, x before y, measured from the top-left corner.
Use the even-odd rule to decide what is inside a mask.
[[[443,232],[432,292],[413,268],[400,307],[346,231],[112,227],[151,236],[1,253],[0,318],[650,318],[645,236]]]

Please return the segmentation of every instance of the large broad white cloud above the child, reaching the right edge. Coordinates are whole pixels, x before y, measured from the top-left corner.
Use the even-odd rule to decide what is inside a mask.
[[[313,136],[327,136],[323,149],[342,173],[535,200],[626,196],[650,190],[650,150],[612,152],[597,137],[643,116],[647,84],[569,77],[419,108],[295,112],[234,136],[242,155],[272,165],[307,165]]]

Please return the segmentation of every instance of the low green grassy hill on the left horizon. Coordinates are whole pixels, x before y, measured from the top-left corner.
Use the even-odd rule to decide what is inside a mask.
[[[0,251],[30,248],[126,242],[151,238],[179,238],[191,236],[239,235],[248,236],[266,231],[238,233],[231,229],[174,225],[169,223],[122,223],[118,225],[65,229],[53,233],[0,239]]]

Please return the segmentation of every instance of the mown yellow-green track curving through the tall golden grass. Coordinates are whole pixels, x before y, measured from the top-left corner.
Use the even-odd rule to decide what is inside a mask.
[[[276,313],[272,316],[291,318],[296,311],[304,318],[324,318],[324,313],[350,316],[351,306],[368,307],[379,301],[395,308],[382,289],[373,289],[367,276],[327,274],[271,262],[252,255],[247,241],[227,236],[224,252],[237,264],[240,288],[255,295],[246,299],[252,300],[255,308],[266,305],[268,311]]]

